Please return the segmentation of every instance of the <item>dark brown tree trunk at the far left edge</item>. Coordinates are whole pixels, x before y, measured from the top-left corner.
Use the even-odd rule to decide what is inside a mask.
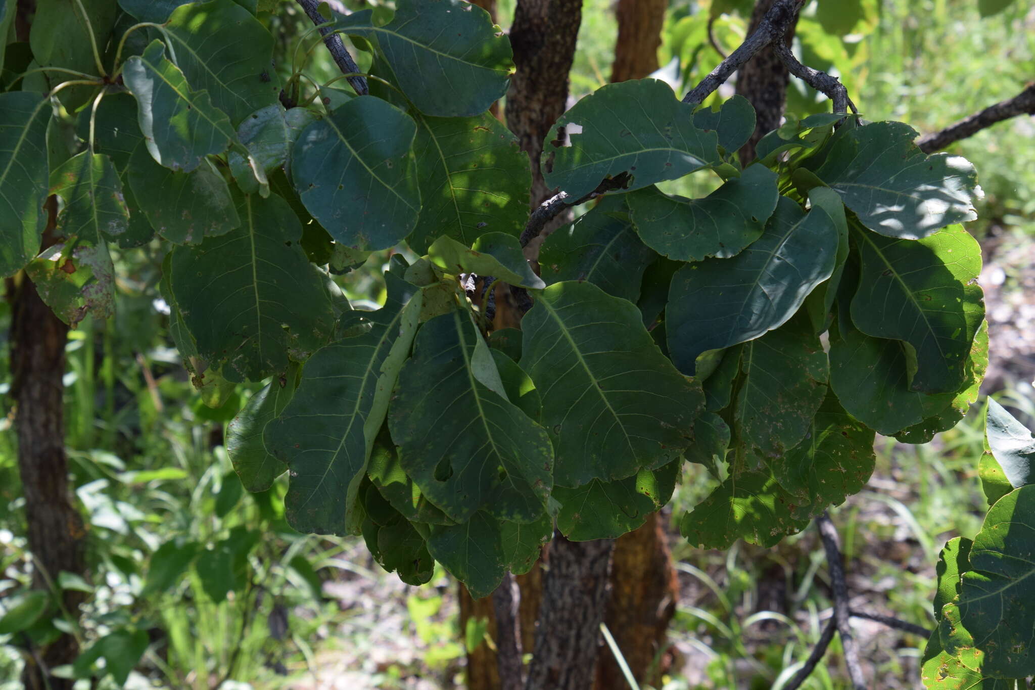
[[[57,203],[46,205],[48,234],[53,230]],[[13,281],[11,281],[13,286]],[[18,434],[18,466],[25,496],[29,548],[33,554],[33,587],[53,588],[58,574],[86,573],[83,518],[75,506],[68,484],[68,462],[64,452],[65,339],[68,327],[39,298],[27,276],[13,287],[10,343],[11,394]],[[62,604],[72,617],[85,595],[65,591]],[[69,664],[79,655],[70,635],[61,635],[41,650],[31,650],[22,683],[30,690],[62,690],[72,681],[47,677],[55,666]]]

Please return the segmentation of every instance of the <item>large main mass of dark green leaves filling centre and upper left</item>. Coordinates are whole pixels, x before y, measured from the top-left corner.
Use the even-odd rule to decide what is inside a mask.
[[[282,85],[256,7],[94,4],[110,74],[0,94],[0,268],[28,264],[75,322],[109,310],[107,245],[156,236],[206,399],[269,380],[228,431],[244,485],[288,471],[295,529],[362,534],[405,581],[439,561],[483,596],[555,526],[642,524],[684,460],[721,481],[682,518],[691,543],[772,544],[861,488],[875,431],[929,440],[977,394],[980,256],[958,224],[976,176],[906,125],[791,119],[742,170],[744,99],[694,112],[662,82],[605,86],[556,123],[541,168],[571,198],[628,182],[549,239],[540,276],[518,240],[528,159],[486,113],[510,47],[483,10],[336,17],[372,55],[372,94],[323,85],[286,109],[299,74]],[[30,48],[45,71],[8,89],[89,77],[89,54]],[[66,160],[62,120],[84,148]],[[706,198],[656,186],[703,171],[723,181]],[[37,256],[49,194],[58,241]],[[353,310],[331,274],[403,241],[424,256],[393,257],[385,305]],[[469,296],[474,275],[492,280]],[[520,331],[494,329],[485,282],[531,293]]]

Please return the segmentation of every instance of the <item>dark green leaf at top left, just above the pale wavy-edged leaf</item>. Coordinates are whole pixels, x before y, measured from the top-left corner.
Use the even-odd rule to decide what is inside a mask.
[[[187,83],[207,91],[231,124],[277,102],[273,34],[233,0],[181,5],[169,17],[165,33]]]

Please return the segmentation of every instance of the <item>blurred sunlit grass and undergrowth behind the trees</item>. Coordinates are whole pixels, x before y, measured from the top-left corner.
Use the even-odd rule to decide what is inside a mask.
[[[513,4],[498,2],[504,28]],[[805,63],[839,76],[867,119],[933,131],[1014,95],[1035,74],[1035,8],[1018,1],[982,18],[977,5],[810,2],[795,50]],[[749,0],[674,0],[657,76],[677,92],[696,83],[719,62],[719,50],[744,38],[750,6]],[[282,36],[285,77],[302,59],[317,81],[335,77],[315,37],[299,40],[310,24],[296,4],[282,3],[264,21]],[[616,35],[612,1],[586,0],[572,100],[608,83]],[[712,97],[731,93],[726,86]],[[827,107],[792,80],[789,113]],[[1035,329],[1023,327],[1035,321],[1033,141],[1035,123],[1016,118],[952,149],[975,163],[986,192],[980,219],[969,227],[987,262],[994,373],[986,392],[1027,422],[1035,418],[1035,341],[1026,333]],[[700,196],[711,184],[694,178],[670,190]],[[383,301],[388,253],[335,278],[360,307]],[[0,632],[0,689],[18,687],[25,636],[45,640],[58,631],[70,631],[86,650],[75,666],[60,669],[83,678],[84,688],[462,686],[465,647],[492,640],[477,621],[460,630],[449,577],[440,570],[431,583],[408,588],[380,571],[361,540],[294,533],[283,519],[286,481],[264,493],[244,491],[227,458],[224,429],[258,386],[239,386],[219,408],[205,406],[169,337],[157,290],[162,258],[145,246],[115,259],[117,316],[87,319],[67,347],[67,447],[89,529],[90,576],[50,579],[53,588],[84,589],[88,600],[81,617],[37,612],[25,632]],[[9,306],[0,303],[5,349],[9,320]],[[0,358],[0,394],[9,385]],[[924,446],[879,438],[874,478],[834,511],[860,605],[933,625],[938,551],[951,536],[973,537],[986,509],[977,477],[980,420],[983,410],[975,409]],[[31,619],[24,592],[33,562],[13,443],[9,418],[0,420],[0,617]],[[694,505],[711,481],[688,466],[667,514]],[[672,534],[682,595],[670,634],[677,661],[664,688],[779,687],[818,638],[830,606],[814,532],[769,550],[738,544],[728,552],[691,549],[678,530]],[[924,640],[856,623],[880,687],[917,687]],[[836,644],[804,687],[848,687]]]

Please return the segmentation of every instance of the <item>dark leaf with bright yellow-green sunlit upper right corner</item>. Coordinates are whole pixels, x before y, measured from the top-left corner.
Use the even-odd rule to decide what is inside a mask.
[[[862,267],[852,321],[867,335],[909,343],[913,390],[956,392],[984,319],[981,247],[960,226],[920,241],[855,237]]]

